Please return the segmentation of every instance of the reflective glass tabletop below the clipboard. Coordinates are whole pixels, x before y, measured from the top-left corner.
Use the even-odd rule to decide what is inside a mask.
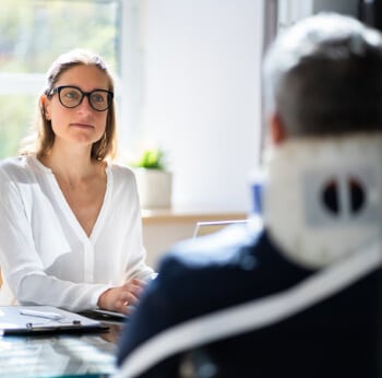
[[[109,327],[96,334],[0,338],[0,377],[108,377],[122,326]]]

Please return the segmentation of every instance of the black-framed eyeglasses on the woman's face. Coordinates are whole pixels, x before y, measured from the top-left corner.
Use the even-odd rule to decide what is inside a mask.
[[[58,93],[58,98],[65,108],[75,108],[86,96],[92,108],[97,111],[107,110],[112,104],[114,93],[105,90],[83,92],[77,86],[61,85],[52,88],[47,95]]]

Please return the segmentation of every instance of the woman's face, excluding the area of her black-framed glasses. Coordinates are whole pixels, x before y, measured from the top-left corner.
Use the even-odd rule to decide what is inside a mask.
[[[108,83],[106,73],[98,68],[75,66],[61,74],[55,87],[72,85],[82,92],[108,91]],[[88,97],[85,96],[79,106],[67,108],[60,103],[56,92],[52,97],[46,97],[44,103],[46,118],[51,121],[56,135],[55,145],[70,143],[74,146],[75,143],[91,149],[103,137],[108,110],[95,110],[88,103]]]

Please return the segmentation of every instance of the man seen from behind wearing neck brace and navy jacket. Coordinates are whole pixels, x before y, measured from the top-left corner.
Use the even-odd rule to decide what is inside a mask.
[[[263,228],[174,247],[121,338],[126,377],[382,377],[382,38],[336,14],[264,62]]]

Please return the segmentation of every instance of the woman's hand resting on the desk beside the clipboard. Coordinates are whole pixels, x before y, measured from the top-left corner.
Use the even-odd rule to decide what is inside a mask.
[[[136,305],[143,283],[133,279],[121,286],[116,286],[104,292],[98,298],[98,307],[129,315],[131,306]],[[129,306],[129,307],[128,307]]]

